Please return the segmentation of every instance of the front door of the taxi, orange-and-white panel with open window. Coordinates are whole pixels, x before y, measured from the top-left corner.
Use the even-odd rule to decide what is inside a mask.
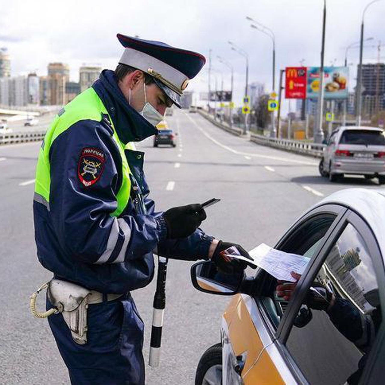
[[[276,248],[307,256],[309,269],[345,211],[346,208],[338,205],[314,209],[289,229]],[[287,368],[282,371],[276,366],[274,352],[264,354],[279,336],[285,308],[283,303],[275,301],[275,278],[261,269],[256,278],[255,294],[235,297],[224,314],[223,384],[295,383]],[[232,318],[226,319],[228,315]]]

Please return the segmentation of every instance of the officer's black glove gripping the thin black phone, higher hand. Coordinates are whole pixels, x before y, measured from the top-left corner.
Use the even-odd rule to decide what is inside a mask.
[[[199,203],[173,207],[163,214],[167,238],[186,238],[204,221],[206,213]]]

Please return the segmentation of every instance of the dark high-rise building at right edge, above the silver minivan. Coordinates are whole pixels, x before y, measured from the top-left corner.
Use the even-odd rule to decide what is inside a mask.
[[[360,65],[357,65],[357,79]],[[362,109],[364,114],[372,115],[385,109],[385,64],[362,65]]]

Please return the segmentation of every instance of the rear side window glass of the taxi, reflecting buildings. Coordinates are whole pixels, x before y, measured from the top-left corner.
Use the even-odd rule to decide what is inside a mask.
[[[349,223],[308,288],[286,347],[312,385],[355,384],[380,323],[372,259]]]

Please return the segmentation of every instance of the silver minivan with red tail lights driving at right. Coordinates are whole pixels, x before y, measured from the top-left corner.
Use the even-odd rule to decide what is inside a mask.
[[[320,174],[330,181],[344,174],[377,177],[385,183],[385,134],[378,127],[339,127],[331,133],[319,166]]]

